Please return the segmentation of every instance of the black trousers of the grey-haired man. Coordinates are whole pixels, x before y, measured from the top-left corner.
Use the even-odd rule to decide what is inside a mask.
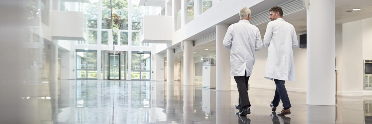
[[[249,76],[247,77],[247,72],[244,74],[244,76],[234,76],[236,85],[238,87],[239,92],[239,105],[240,107],[245,107],[248,105],[248,107],[251,107],[251,103],[249,102],[248,98],[248,80]]]

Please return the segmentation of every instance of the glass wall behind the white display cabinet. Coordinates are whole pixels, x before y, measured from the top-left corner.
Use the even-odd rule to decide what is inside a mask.
[[[203,61],[204,58],[214,58],[216,61],[216,53],[210,53],[206,55],[194,57],[194,81],[202,82],[203,81]]]

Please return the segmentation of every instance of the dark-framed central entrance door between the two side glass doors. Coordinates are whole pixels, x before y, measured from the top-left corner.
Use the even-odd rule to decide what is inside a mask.
[[[109,66],[109,80],[120,80],[121,77],[119,76],[121,71],[120,71],[120,66],[119,66],[119,61],[120,61],[120,54],[109,54],[110,57],[110,66]]]

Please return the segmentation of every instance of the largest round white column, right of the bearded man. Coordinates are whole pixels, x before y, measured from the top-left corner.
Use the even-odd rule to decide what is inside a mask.
[[[335,105],[334,15],[335,0],[310,0],[307,10],[306,95],[310,105]]]

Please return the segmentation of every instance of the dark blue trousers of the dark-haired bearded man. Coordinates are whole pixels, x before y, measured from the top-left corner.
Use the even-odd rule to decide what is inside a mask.
[[[273,99],[273,104],[275,107],[279,105],[280,99],[282,99],[283,107],[284,108],[291,108],[291,102],[289,102],[287,89],[285,89],[284,82],[282,80],[274,79],[276,89],[275,95]]]

